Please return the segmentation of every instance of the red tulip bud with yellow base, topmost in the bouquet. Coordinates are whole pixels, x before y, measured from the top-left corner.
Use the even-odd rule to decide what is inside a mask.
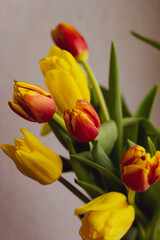
[[[88,58],[88,47],[82,35],[70,24],[60,23],[51,31],[55,44],[70,52],[78,61]]]

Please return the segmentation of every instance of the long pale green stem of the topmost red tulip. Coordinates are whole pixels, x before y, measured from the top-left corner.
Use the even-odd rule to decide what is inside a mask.
[[[83,61],[81,61],[81,63],[82,63],[84,69],[86,70],[86,72],[88,74],[88,77],[91,81],[93,89],[94,89],[94,91],[96,93],[96,96],[99,100],[99,104],[100,104],[100,108],[101,108],[101,111],[102,111],[102,114],[103,114],[104,121],[109,121],[110,120],[109,112],[108,112],[108,109],[107,109],[107,106],[106,106],[101,88],[100,88],[100,86],[97,82],[97,79],[96,79],[91,67],[89,66],[88,62],[86,60],[83,60]]]

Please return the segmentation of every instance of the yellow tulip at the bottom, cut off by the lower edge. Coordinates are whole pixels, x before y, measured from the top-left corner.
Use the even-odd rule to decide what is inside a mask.
[[[103,194],[75,210],[82,219],[79,233],[83,240],[119,240],[131,227],[134,208],[118,192]]]

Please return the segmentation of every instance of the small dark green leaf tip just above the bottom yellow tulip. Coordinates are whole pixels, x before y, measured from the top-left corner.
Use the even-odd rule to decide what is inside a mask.
[[[105,193],[105,191],[91,183],[86,183],[84,181],[75,180],[75,182],[81,186],[92,198],[98,197]]]

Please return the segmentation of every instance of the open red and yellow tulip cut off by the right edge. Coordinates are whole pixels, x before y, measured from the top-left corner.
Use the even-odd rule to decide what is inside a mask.
[[[160,151],[151,157],[143,147],[133,146],[123,155],[120,170],[128,189],[144,192],[160,179]]]

